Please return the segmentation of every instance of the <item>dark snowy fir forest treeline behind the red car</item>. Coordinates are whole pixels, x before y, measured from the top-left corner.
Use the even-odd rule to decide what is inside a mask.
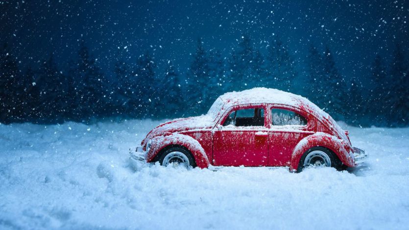
[[[174,118],[206,113],[233,90],[277,88],[307,97],[336,120],[362,126],[409,125],[409,69],[396,45],[392,58],[376,55],[365,76],[344,77],[328,46],[311,44],[307,70],[298,73],[287,44],[276,39],[264,50],[241,37],[228,57],[205,49],[201,39],[187,73],[171,61],[158,71],[152,53],[136,60],[118,55],[105,74],[82,42],[76,60],[61,70],[51,55],[22,70],[4,45],[0,57],[0,122],[62,123],[100,119]]]

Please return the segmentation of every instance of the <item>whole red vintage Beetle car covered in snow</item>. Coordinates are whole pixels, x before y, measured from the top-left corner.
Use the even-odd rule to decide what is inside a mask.
[[[367,154],[352,147],[326,112],[298,95],[254,88],[226,93],[206,115],[151,130],[130,159],[178,167],[354,167]]]

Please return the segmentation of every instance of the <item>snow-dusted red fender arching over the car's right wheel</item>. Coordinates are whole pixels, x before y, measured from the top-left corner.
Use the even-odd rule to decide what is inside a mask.
[[[353,167],[355,165],[354,156],[351,156],[348,149],[348,143],[338,139],[336,136],[330,135],[324,132],[317,132],[313,135],[303,138],[297,146],[295,146],[294,151],[291,155],[290,171],[297,171],[298,164],[300,163],[301,156],[313,147],[324,147],[331,150],[333,153],[337,154],[339,160],[343,164]]]

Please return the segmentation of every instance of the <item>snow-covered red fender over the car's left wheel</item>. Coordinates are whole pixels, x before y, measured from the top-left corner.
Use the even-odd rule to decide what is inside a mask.
[[[158,153],[169,145],[180,145],[187,148],[192,153],[197,167],[202,169],[209,167],[209,159],[200,143],[192,137],[180,133],[152,138],[151,148],[146,155],[146,162],[151,162]]]

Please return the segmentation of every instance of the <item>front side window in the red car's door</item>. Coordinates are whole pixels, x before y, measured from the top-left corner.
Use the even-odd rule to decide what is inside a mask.
[[[223,126],[264,126],[264,109],[238,109],[232,111],[223,123]]]

